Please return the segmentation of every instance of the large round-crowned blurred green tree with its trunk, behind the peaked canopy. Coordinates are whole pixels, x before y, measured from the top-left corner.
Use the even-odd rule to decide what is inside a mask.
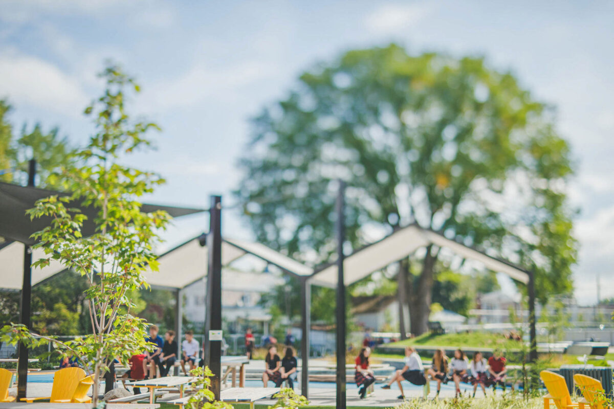
[[[534,270],[542,301],[571,290],[569,146],[553,110],[483,58],[347,52],[302,74],[252,129],[236,194],[261,242],[332,259],[343,178],[352,248],[415,222]],[[401,263],[414,334],[440,256],[428,247],[416,280]]]

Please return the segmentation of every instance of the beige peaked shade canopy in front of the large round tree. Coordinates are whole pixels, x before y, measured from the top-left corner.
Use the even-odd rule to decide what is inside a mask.
[[[431,244],[449,248],[465,259],[481,262],[486,268],[494,272],[505,273],[521,283],[526,284],[529,281],[529,274],[526,270],[516,267],[510,262],[494,258],[482,251],[447,239],[444,235],[423,229],[418,224],[411,224],[346,256],[343,261],[345,285],[356,283],[356,281],[362,280],[371,273],[410,256],[419,248]],[[337,283],[336,265],[331,264],[317,269],[312,282],[316,285],[335,286]]]

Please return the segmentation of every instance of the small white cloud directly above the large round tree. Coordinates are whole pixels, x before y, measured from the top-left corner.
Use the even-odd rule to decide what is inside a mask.
[[[429,15],[430,9],[426,4],[386,4],[365,20],[367,29],[376,34],[395,34],[410,28]]]

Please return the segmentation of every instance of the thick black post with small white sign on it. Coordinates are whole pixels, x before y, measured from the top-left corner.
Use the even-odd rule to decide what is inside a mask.
[[[211,331],[222,331],[222,197],[211,196],[209,210],[211,223],[209,224],[209,237],[207,246],[209,250],[208,281],[208,315],[209,329],[205,338],[209,341],[207,364],[213,372],[211,378],[211,391],[215,399],[220,399],[220,380],[222,379],[222,342],[211,339]]]

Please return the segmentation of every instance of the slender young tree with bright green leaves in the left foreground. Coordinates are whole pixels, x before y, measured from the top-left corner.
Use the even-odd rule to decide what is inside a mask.
[[[141,212],[136,199],[150,193],[163,180],[150,172],[120,164],[134,150],[150,145],[145,134],[158,129],[153,123],[131,121],[125,110],[126,89],[138,92],[133,78],[117,66],[108,66],[101,76],[106,90],[86,115],[93,118],[96,132],[83,150],[74,154],[78,166],[64,167],[53,183],[60,183],[71,197],[50,196],[29,210],[32,218],[47,216],[50,226],[35,234],[46,258],[34,262],[45,266],[55,259],[86,277],[85,291],[91,334],[69,342],[53,337],[35,338],[23,326],[4,327],[3,340],[37,345],[53,342],[56,348],[78,356],[95,378],[93,404],[98,400],[99,379],[107,364],[117,358],[127,362],[134,351],[152,349],[147,345],[146,323],[130,314],[130,291],[147,288],[144,270],[157,268],[154,245],[158,230],[168,223],[165,212]],[[96,233],[82,237],[85,216],[78,206],[93,205],[98,216]]]

